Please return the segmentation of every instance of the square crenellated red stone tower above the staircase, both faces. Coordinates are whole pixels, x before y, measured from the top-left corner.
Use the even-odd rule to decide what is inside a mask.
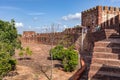
[[[116,17],[120,14],[120,8],[108,6],[96,6],[82,12],[82,25],[94,28],[100,25],[102,28],[111,28],[116,24]]]

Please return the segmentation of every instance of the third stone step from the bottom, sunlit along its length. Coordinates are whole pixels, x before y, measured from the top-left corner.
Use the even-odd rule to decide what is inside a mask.
[[[106,64],[109,66],[120,66],[120,60],[116,59],[92,58],[92,63]]]

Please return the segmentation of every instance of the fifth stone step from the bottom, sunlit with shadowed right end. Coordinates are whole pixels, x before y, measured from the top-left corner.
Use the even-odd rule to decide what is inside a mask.
[[[119,53],[119,47],[94,47],[94,52]]]

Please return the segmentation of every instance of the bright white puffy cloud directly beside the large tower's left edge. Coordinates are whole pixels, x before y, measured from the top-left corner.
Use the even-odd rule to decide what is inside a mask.
[[[75,14],[69,14],[67,16],[62,17],[63,20],[80,20],[81,19],[81,13],[75,13]]]

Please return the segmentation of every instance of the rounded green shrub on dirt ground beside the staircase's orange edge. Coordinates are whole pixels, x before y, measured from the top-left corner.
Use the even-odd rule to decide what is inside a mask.
[[[78,64],[78,54],[74,51],[73,47],[64,49],[63,46],[58,45],[55,48],[51,49],[54,60],[61,60],[65,71],[75,70]]]

